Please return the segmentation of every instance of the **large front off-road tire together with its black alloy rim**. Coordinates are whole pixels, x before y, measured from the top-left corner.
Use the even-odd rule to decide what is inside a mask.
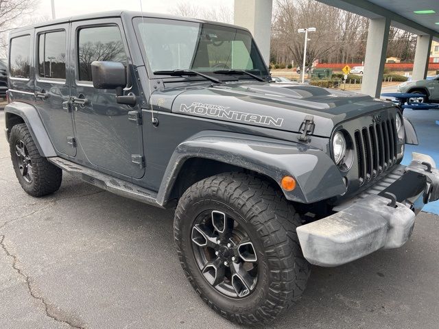
[[[193,184],[174,220],[178,257],[193,288],[220,315],[240,324],[274,319],[305,290],[310,265],[283,193],[245,173]]]

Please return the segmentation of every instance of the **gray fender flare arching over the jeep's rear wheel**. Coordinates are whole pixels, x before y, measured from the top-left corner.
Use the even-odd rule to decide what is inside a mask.
[[[21,101],[13,101],[5,106],[6,119],[8,119],[8,113],[16,114],[25,121],[27,129],[32,139],[34,139],[36,148],[41,156],[45,156],[46,158],[57,156],[54,145],[52,145],[43,125],[43,121],[41,121],[40,115],[34,106]],[[6,125],[8,126],[8,121],[6,121]]]

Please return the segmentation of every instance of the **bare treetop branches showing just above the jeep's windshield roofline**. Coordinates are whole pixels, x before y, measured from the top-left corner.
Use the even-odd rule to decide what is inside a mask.
[[[233,23],[233,11],[225,6],[221,6],[219,9],[209,9],[200,5],[191,5],[191,3],[180,2],[171,13],[178,16],[191,17],[193,19],[207,19],[209,21]]]

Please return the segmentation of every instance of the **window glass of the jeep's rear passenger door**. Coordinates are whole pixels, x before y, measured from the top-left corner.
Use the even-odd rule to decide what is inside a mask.
[[[66,32],[48,32],[38,38],[38,74],[52,79],[66,78]]]

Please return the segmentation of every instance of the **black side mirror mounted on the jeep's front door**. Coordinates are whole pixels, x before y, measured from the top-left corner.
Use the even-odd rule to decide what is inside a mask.
[[[93,87],[96,89],[115,89],[117,103],[136,105],[137,97],[135,95],[123,96],[123,88],[126,87],[126,69],[121,62],[98,62],[95,60],[91,63],[91,77]]]

